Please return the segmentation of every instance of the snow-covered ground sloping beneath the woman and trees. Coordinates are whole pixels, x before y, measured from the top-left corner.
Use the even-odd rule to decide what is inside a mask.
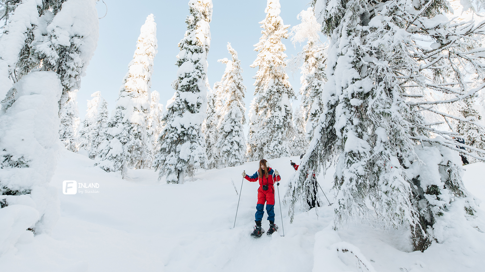
[[[299,161],[269,161],[282,176],[281,200],[294,174],[290,160]],[[298,212],[293,224],[288,207],[282,205],[282,224],[276,195],[279,230],[254,239],[249,233],[256,212],[256,182],[244,181],[235,228],[233,224],[239,197],[235,187],[241,190],[242,170],[254,173],[257,162],[201,171],[184,184],[159,183],[151,170],[130,170],[122,180],[93,164],[83,155],[62,151],[51,182],[58,188],[60,220],[50,235],[23,239],[2,255],[1,272],[478,272],[485,267],[482,210],[468,221],[456,219],[463,227],[450,229],[452,238],[421,253],[404,246],[404,230],[350,223],[334,231],[333,208],[325,204],[318,211]],[[485,199],[485,164],[465,168],[466,187]],[[64,195],[65,180],[98,183],[98,192]],[[331,180],[319,178],[330,200]],[[322,200],[326,201],[323,196]],[[267,222],[263,220],[264,229]]]

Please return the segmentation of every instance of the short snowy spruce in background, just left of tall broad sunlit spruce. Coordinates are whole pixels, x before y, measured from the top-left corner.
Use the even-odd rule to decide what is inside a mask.
[[[94,159],[97,154],[97,148],[104,140],[104,131],[106,130],[106,123],[108,122],[108,103],[101,96],[100,91],[91,94],[94,97],[88,100],[88,109],[86,110],[86,117],[82,122],[79,131],[80,149],[85,149],[89,158]]]

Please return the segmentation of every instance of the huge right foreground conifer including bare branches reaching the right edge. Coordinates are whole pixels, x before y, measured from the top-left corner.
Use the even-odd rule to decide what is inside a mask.
[[[444,225],[435,223],[443,220],[446,207],[464,197],[464,211],[472,213],[473,201],[463,188],[457,154],[451,151],[460,151],[450,139],[457,134],[434,129],[436,123],[427,123],[421,111],[446,116],[436,105],[461,101],[483,88],[481,82],[470,88],[463,68],[469,65],[474,73],[483,69],[480,57],[474,56],[478,51],[464,46],[483,33],[484,25],[451,24],[440,15],[448,11],[445,1],[416,2],[413,9],[406,8],[405,1],[346,1],[332,9],[327,9],[327,0],[314,4],[323,32],[332,38],[323,93],[326,107],[301,172],[291,181],[291,204],[307,189],[308,174],[318,173],[321,166],[326,169],[339,156],[334,185],[339,222],[375,214],[386,226],[408,225],[415,250],[424,250],[432,238],[442,242]],[[436,41],[431,50],[416,43],[420,35]],[[447,78],[440,72],[443,68]],[[453,97],[424,101],[423,91]],[[443,137],[431,138],[429,133]],[[426,143],[416,146],[418,141]],[[440,178],[426,175],[422,160],[427,167],[442,167]]]

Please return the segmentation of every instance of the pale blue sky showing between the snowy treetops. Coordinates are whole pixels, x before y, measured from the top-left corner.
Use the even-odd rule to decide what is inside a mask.
[[[175,62],[178,54],[178,42],[183,38],[186,24],[185,17],[189,15],[188,0],[105,0],[108,5],[108,15],[99,20],[99,41],[87,75],[82,78],[81,89],[78,92],[78,106],[81,120],[86,113],[86,100],[91,99],[91,93],[101,91],[108,101],[108,109],[114,109],[118,91],[123,77],[128,71],[128,63],[133,57],[136,41],[140,35],[140,27],[145,23],[146,16],[155,15],[157,23],[158,54],[152,76],[151,90],[160,92],[160,103],[166,106],[174,90],[172,81],[176,78]],[[230,58],[227,52],[227,42],[238,51],[241,60],[244,85],[247,87],[246,108],[254,97],[254,79],[257,68],[249,65],[256,59],[258,52],[254,46],[261,37],[259,22],[265,17],[266,0],[212,0],[213,15],[210,23],[211,45],[208,55],[209,83],[211,86],[221,77],[226,68],[219,59]],[[310,0],[280,0],[283,22],[292,26],[300,23],[296,16],[306,10]],[[99,16],[104,15],[104,4],[97,2]],[[283,41],[286,54],[297,55],[301,46],[296,48],[290,39]],[[298,72],[299,73],[299,72]],[[290,74],[290,82],[298,92],[300,75]],[[295,103],[295,105],[298,103]]]

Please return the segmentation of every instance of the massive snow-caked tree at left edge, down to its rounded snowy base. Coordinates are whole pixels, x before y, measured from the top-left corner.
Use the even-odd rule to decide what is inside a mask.
[[[57,38],[48,35],[54,26],[60,28]],[[49,182],[60,144],[58,114],[63,78],[57,71],[38,71],[47,70],[49,60],[37,50],[49,42],[70,43],[69,35],[78,36],[83,45],[76,61],[82,74],[97,45],[95,2],[17,1],[2,30],[0,228],[6,232],[1,235],[0,254],[30,230],[48,233],[59,216],[59,202]],[[3,81],[5,78],[8,80]]]

